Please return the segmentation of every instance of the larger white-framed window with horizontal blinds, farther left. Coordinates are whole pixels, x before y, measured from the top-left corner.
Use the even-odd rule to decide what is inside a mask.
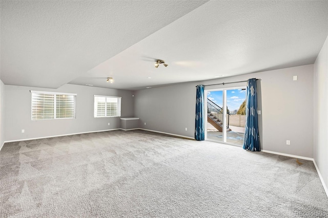
[[[76,94],[30,91],[32,120],[75,118]]]

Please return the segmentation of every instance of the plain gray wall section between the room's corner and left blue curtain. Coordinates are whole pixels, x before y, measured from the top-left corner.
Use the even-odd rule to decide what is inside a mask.
[[[136,91],[134,106],[135,115],[140,118],[139,127],[194,137],[196,84],[181,83]]]

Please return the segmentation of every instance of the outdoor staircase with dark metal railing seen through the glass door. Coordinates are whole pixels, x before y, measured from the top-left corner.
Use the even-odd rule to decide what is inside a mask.
[[[229,114],[227,118],[227,130],[230,130]],[[207,121],[219,130],[219,132],[223,132],[223,109],[210,99],[207,99]]]

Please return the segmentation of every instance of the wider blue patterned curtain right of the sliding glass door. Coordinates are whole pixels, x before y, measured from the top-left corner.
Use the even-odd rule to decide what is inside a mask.
[[[246,126],[243,149],[260,151],[260,138],[257,122],[256,79],[247,81]]]

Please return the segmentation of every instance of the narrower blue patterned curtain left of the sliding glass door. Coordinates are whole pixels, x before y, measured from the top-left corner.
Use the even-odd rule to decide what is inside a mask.
[[[204,85],[197,85],[196,91],[196,119],[195,119],[195,139],[205,140],[205,107],[204,107]]]

